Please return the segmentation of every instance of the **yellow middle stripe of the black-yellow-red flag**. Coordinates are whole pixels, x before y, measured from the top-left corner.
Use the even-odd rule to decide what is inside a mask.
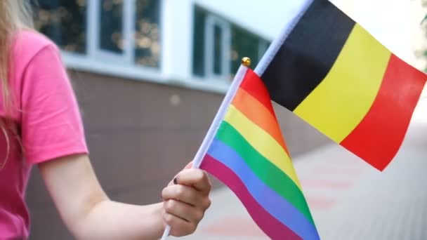
[[[390,51],[356,24],[326,78],[294,113],[341,142],[372,106],[389,58]]]

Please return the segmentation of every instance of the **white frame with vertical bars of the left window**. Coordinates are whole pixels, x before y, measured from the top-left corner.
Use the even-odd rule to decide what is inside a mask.
[[[160,19],[159,25],[162,25],[164,20],[163,8],[164,0],[160,4]],[[135,4],[136,0],[124,0],[123,2],[123,33],[124,33],[124,51],[122,54],[109,53],[100,49],[100,2],[101,0],[87,1],[86,6],[86,53],[73,53],[70,51],[61,51],[64,62],[67,67],[94,72],[98,74],[107,74],[111,76],[124,77],[139,81],[166,82],[166,78],[162,74],[162,58],[159,67],[148,67],[137,65],[135,59],[135,47],[133,32],[135,31]],[[164,35],[164,29],[160,29],[160,34]],[[163,37],[161,37],[161,46],[164,45]]]

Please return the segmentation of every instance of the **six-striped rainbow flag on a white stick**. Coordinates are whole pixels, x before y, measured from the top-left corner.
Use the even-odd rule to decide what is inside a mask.
[[[221,110],[222,109],[222,110]],[[320,239],[259,77],[243,65],[196,159],[234,192],[271,239]]]

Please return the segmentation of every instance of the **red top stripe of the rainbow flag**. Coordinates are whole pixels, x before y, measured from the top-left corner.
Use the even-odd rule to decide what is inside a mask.
[[[256,73],[252,69],[247,70],[247,73],[244,76],[242,84],[240,84],[240,88],[244,89],[244,91],[247,91],[247,93],[249,93],[254,98],[256,98],[258,102],[261,102],[261,104],[264,105],[268,109],[268,111],[271,112],[275,121],[277,121],[275,110],[272,107],[270,94],[268,93],[268,90],[265,87],[265,84],[263,83],[263,81],[259,78],[258,75],[256,75]],[[279,127],[279,130],[280,130],[280,127]],[[282,147],[284,147],[284,151],[288,154],[288,156],[291,156],[289,154],[289,150],[287,149],[286,140],[284,140],[284,138],[283,138]]]

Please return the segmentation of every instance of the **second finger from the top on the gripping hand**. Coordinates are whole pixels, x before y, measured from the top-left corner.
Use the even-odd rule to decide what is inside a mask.
[[[183,201],[192,206],[202,206],[202,197],[199,191],[193,187],[185,185],[170,185],[162,191],[164,200],[175,199]]]

